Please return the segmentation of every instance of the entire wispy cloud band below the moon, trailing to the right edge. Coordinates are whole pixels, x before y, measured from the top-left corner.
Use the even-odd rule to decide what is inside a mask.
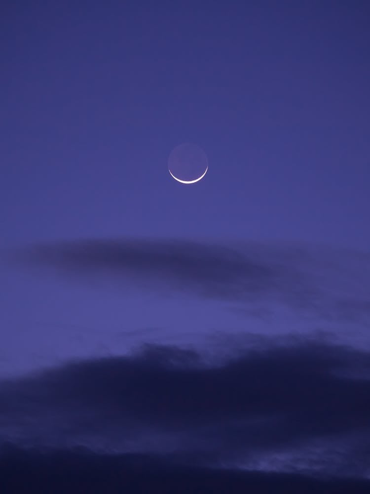
[[[253,310],[256,304],[264,311],[261,303],[277,302],[326,319],[368,321],[369,256],[333,252],[252,244],[86,240],[33,247],[23,259],[89,280],[109,278],[126,287],[144,283],[156,290],[186,290]]]

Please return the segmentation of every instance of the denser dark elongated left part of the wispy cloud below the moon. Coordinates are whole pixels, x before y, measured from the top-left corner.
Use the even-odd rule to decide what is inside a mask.
[[[89,240],[34,247],[27,257],[79,276],[154,280],[216,297],[265,290],[277,275],[229,247],[180,241]]]

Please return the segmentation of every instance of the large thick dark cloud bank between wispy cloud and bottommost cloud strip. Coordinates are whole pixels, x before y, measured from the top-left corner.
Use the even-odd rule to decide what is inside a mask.
[[[255,345],[218,364],[149,346],[3,382],[0,403],[1,437],[22,446],[369,474],[370,355],[330,344]]]

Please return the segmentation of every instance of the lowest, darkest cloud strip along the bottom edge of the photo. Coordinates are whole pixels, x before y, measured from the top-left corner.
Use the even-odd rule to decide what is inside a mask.
[[[0,481],[3,494],[367,494],[370,489],[366,480],[191,467],[148,455],[11,447],[0,452]]]

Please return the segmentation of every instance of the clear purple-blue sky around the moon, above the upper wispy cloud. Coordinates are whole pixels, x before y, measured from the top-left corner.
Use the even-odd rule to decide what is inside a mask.
[[[2,243],[201,236],[367,249],[367,13],[356,1],[9,3]],[[210,170],[184,188],[167,158],[188,141]]]

